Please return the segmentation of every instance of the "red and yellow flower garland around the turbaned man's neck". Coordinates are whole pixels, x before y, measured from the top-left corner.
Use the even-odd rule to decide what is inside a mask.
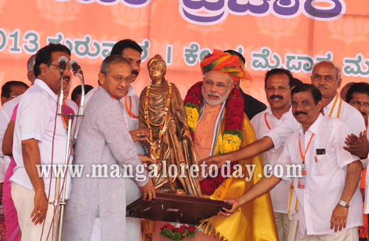
[[[187,123],[191,131],[192,140],[194,140],[194,130],[196,130],[197,122],[199,120],[201,106],[204,101],[202,96],[202,83],[197,82],[187,92],[184,99],[184,108],[187,113]],[[243,125],[243,98],[238,89],[233,88],[226,101],[226,116],[224,117],[224,133],[222,133],[222,144],[219,155],[233,152],[240,149]],[[233,165],[231,163],[231,172],[233,172]],[[226,171],[226,170],[225,170]],[[226,178],[221,176],[220,172],[215,178],[206,178],[200,181],[202,193],[211,195],[218,188],[218,186]]]

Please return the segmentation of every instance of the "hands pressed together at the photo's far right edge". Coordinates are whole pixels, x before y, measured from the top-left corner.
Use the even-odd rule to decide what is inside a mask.
[[[343,147],[343,149],[352,155],[360,157],[360,159],[365,159],[368,157],[369,152],[369,140],[366,135],[366,130],[361,132],[359,136],[354,134],[348,135],[345,141],[347,147]]]

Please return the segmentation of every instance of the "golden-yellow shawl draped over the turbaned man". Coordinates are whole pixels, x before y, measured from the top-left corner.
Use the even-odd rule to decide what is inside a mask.
[[[224,110],[224,115],[225,115]],[[222,133],[224,132],[224,121],[221,122],[221,127],[216,138],[213,155],[219,153]],[[244,147],[256,140],[255,132],[250,124],[250,121],[243,114],[243,140],[241,147]],[[251,187],[253,187],[263,177],[263,160],[258,155],[251,159],[243,159],[238,162],[243,167],[243,178],[229,177],[214,191],[210,196],[214,200],[222,200],[226,198],[237,198],[241,196]],[[250,181],[246,181],[248,176],[245,164],[255,164],[255,171]],[[258,176],[261,174],[261,176]],[[270,194],[265,194],[256,198],[253,201],[245,203],[238,208],[236,213],[225,217],[223,215],[215,215],[204,220],[202,228],[205,233],[212,231],[216,235],[223,237],[228,241],[277,241],[277,229],[275,228],[274,214]]]

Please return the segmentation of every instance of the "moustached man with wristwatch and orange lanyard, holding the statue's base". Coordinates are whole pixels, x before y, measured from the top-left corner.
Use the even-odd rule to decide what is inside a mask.
[[[292,90],[292,113],[300,126],[287,138],[274,169],[243,196],[228,200],[233,213],[238,206],[272,189],[281,179],[293,182],[299,201],[301,241],[356,241],[363,225],[362,199],[358,190],[362,164],[343,149],[351,133],[338,118],[321,114],[321,93],[311,84]],[[300,172],[293,174],[289,165]],[[295,169],[296,170],[296,169]],[[290,174],[289,174],[290,171]],[[225,213],[223,213],[225,214]]]

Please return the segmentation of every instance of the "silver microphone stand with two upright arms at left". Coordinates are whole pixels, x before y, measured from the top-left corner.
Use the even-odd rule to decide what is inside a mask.
[[[61,181],[61,176],[57,176],[57,181],[55,184],[55,198],[53,202],[50,202],[51,204],[54,205],[54,220],[53,220],[53,237],[52,240],[53,241],[61,241],[62,240],[62,225],[63,225],[63,221],[64,221],[64,211],[65,211],[65,193],[66,193],[66,189],[67,189],[67,179],[66,179],[66,172],[67,172],[67,165],[69,164],[69,160],[70,160],[70,152],[71,152],[71,145],[73,142],[73,139],[75,138],[75,135],[73,135],[73,138],[71,138],[72,136],[72,120],[74,117],[75,118],[75,129],[77,128],[77,120],[79,117],[83,117],[83,107],[84,107],[84,76],[83,76],[83,72],[82,69],[77,69],[77,71],[75,71],[75,69],[73,69],[73,72],[75,74],[75,76],[77,76],[79,78],[79,80],[81,81],[81,86],[82,86],[82,94],[81,94],[81,102],[79,104],[79,111],[77,114],[65,114],[62,113],[62,103],[63,103],[63,88],[62,88],[62,74],[63,74],[63,70],[60,70],[60,99],[59,99],[59,103],[57,106],[57,115],[58,116],[67,116],[68,117],[68,131],[67,131],[67,147],[66,147],[66,151],[65,151],[65,170],[64,173],[62,174],[63,176],[63,183],[62,183],[62,191],[60,191],[60,181]],[[60,195],[61,194],[61,195]],[[60,198],[61,196],[61,198]]]

